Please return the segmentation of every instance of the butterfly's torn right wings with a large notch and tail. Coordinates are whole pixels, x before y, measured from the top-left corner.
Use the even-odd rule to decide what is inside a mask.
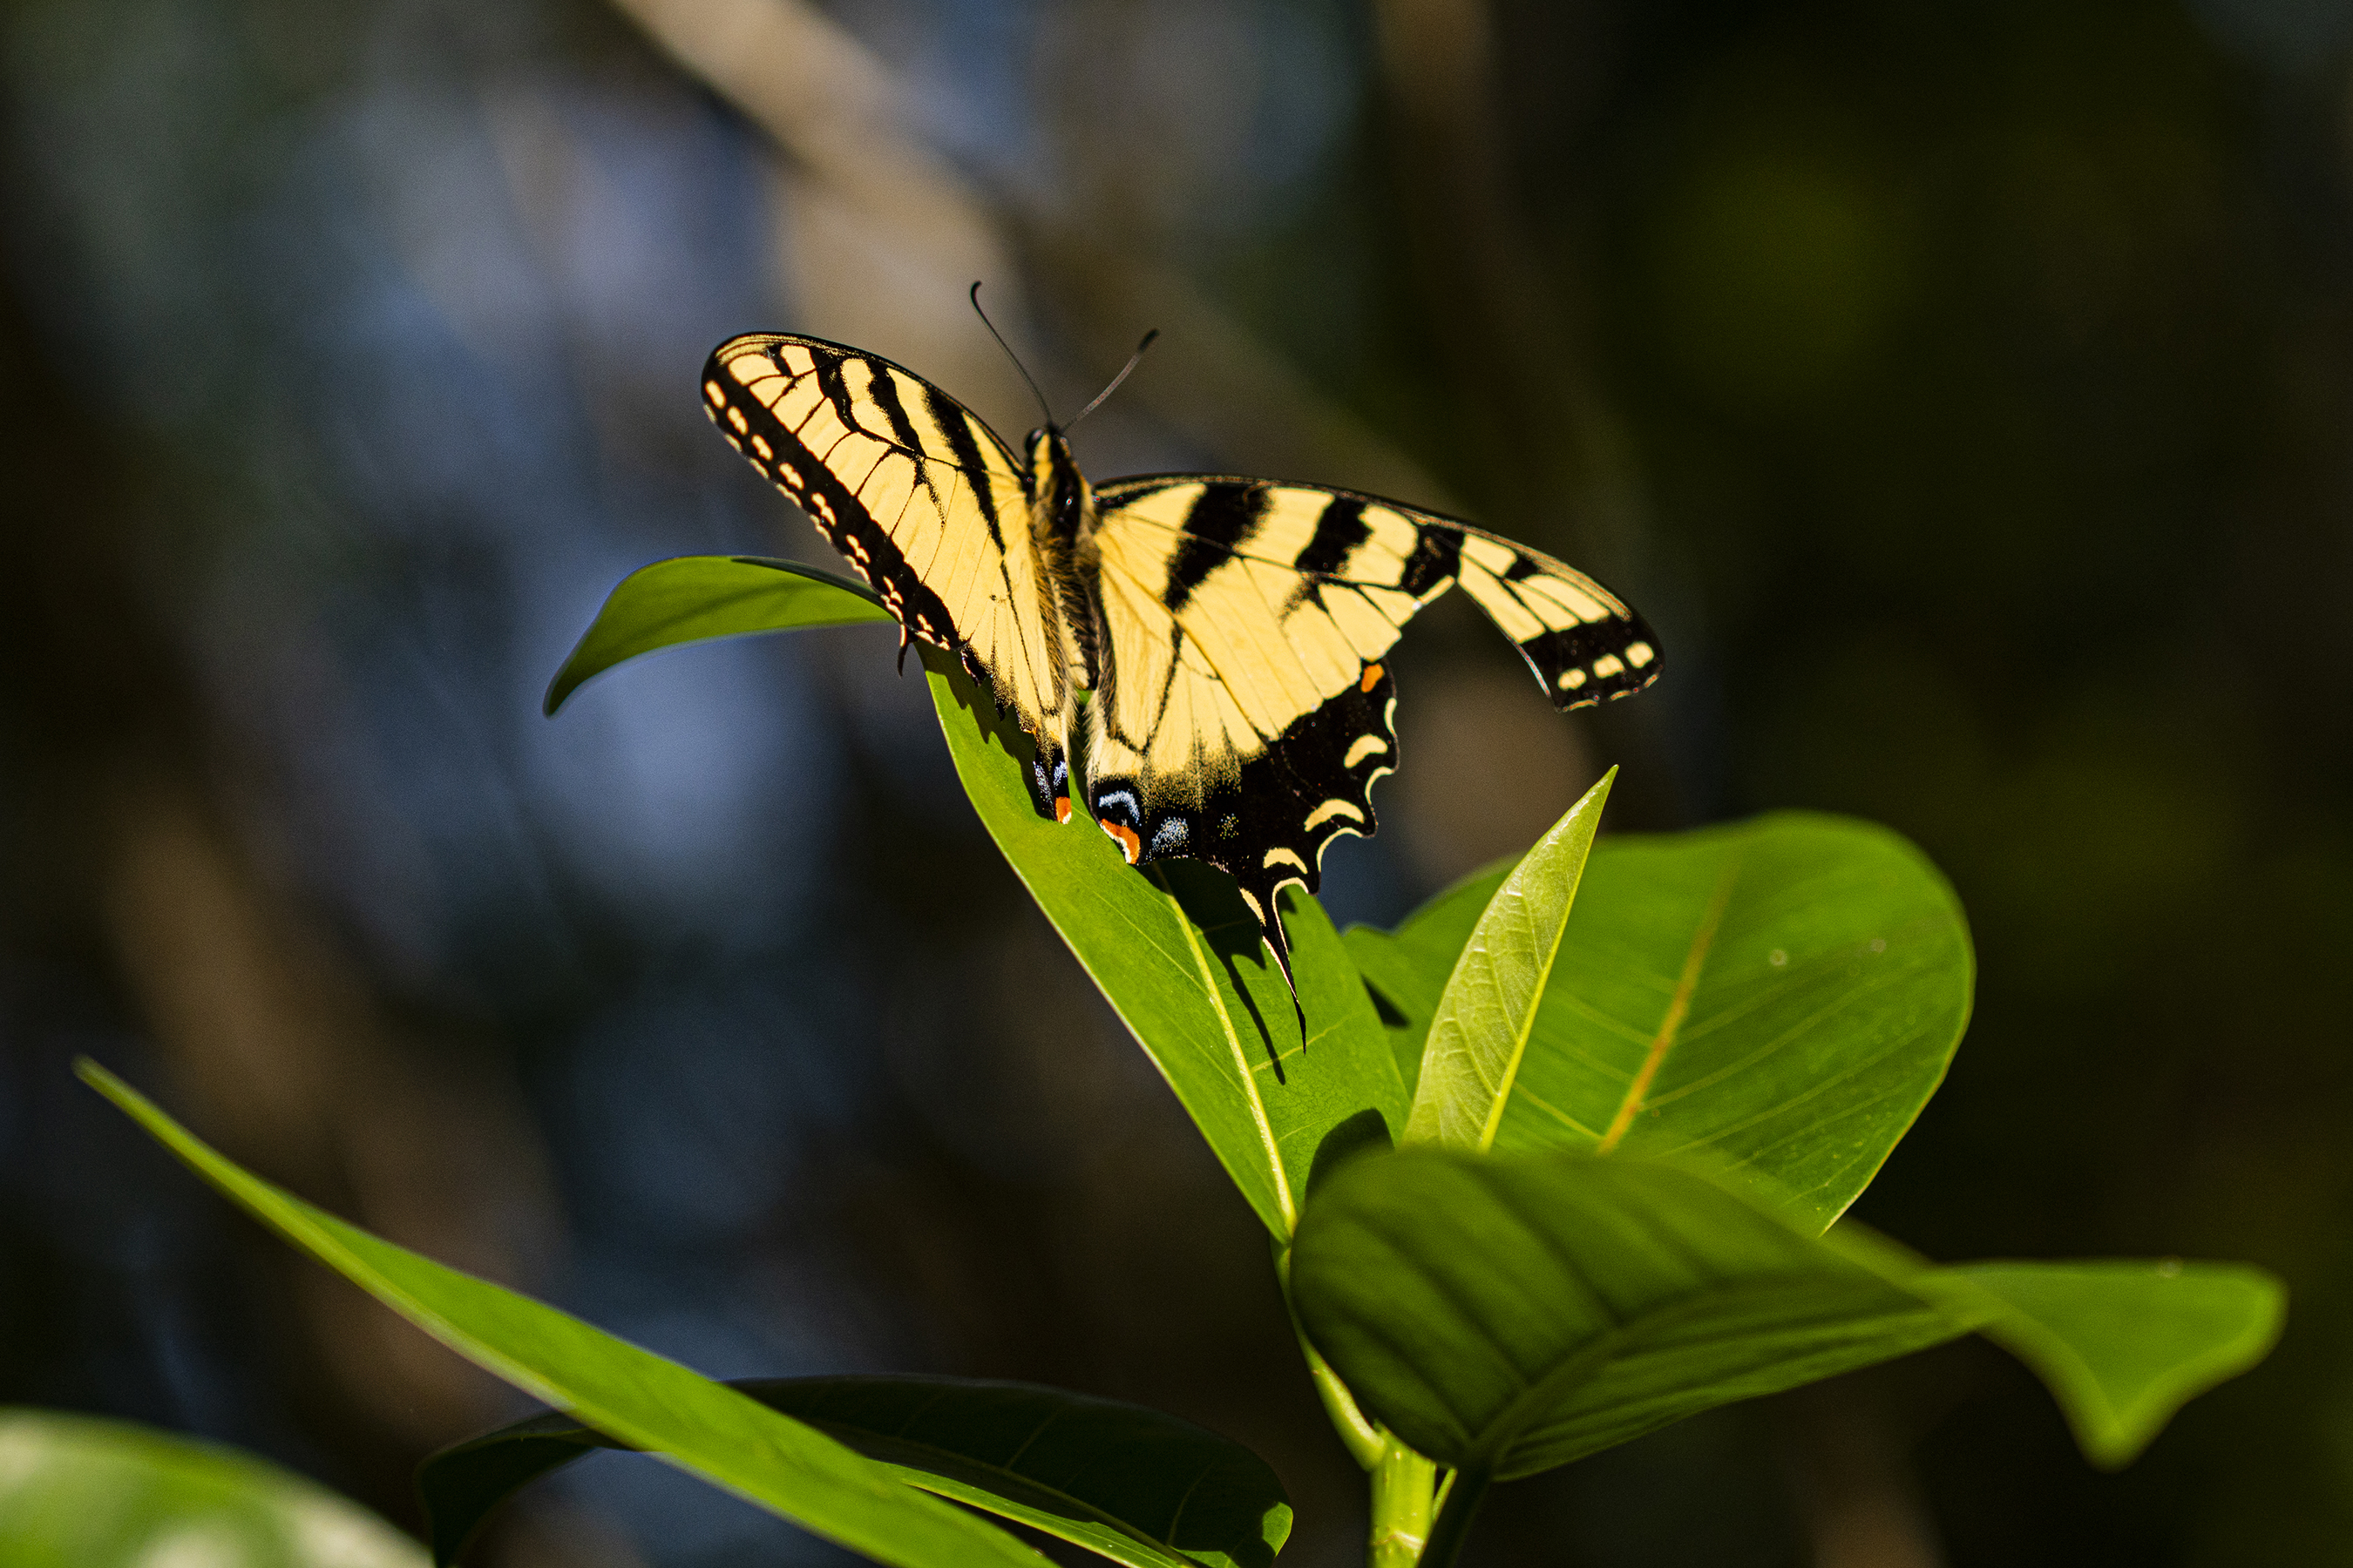
[[[1104,677],[1089,804],[1136,863],[1193,856],[1235,877],[1289,973],[1275,910],[1322,851],[1374,830],[1398,759],[1384,656],[1449,588],[1511,637],[1558,708],[1640,691],[1659,642],[1548,555],[1452,517],[1311,484],[1207,475],[1096,491]]]

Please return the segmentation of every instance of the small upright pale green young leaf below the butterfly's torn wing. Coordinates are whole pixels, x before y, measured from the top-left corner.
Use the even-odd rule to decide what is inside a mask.
[[[1475,1152],[1494,1143],[1612,780],[1617,769],[1537,839],[1480,912],[1431,1016],[1405,1143]]]

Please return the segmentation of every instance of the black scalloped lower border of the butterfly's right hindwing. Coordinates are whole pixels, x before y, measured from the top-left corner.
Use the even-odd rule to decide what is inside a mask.
[[[1365,665],[1353,686],[1212,785],[1200,806],[1155,806],[1139,780],[1106,776],[1089,780],[1094,818],[1136,865],[1188,856],[1228,872],[1297,999],[1275,893],[1289,882],[1315,893],[1332,839],[1372,837],[1372,780],[1398,766],[1395,708],[1395,677],[1386,665]]]

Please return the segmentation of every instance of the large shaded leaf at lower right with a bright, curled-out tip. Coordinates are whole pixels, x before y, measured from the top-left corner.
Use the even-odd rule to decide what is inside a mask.
[[[2113,1465],[2252,1366],[2280,1312],[2278,1284],[2235,1265],[1934,1269],[1678,1166],[1452,1150],[1325,1182],[1292,1295],[1369,1415],[1494,1479],[1972,1328],[2017,1347]]]

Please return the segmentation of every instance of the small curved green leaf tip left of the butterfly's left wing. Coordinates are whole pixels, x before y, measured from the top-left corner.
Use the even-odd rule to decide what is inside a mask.
[[[631,571],[548,684],[546,712],[624,658],[682,642],[889,621],[864,583],[765,555],[680,555]]]

